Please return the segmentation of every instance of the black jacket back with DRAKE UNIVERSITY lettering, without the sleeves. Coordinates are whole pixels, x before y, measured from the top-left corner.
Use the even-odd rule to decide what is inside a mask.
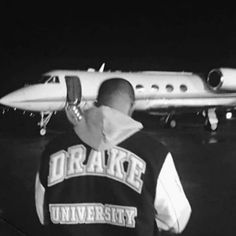
[[[104,151],[92,149],[76,134],[59,137],[48,146],[40,172],[51,230],[55,235],[63,230],[71,235],[153,235],[155,189],[166,154],[142,132]]]

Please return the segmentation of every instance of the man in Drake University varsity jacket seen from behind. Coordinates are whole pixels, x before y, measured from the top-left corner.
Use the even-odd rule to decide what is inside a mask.
[[[132,85],[102,83],[97,103],[44,151],[36,177],[36,208],[53,235],[181,233],[191,214],[170,152],[130,116]]]

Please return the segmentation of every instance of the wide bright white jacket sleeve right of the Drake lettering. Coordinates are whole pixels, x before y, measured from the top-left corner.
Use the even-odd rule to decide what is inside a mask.
[[[159,230],[173,233],[184,230],[191,215],[191,207],[170,153],[166,156],[157,180],[154,206]]]

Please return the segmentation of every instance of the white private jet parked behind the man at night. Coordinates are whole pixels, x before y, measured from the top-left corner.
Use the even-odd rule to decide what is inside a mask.
[[[0,104],[14,109],[40,112],[40,134],[54,112],[66,106],[67,80],[80,84],[80,109],[86,110],[96,101],[100,84],[111,78],[128,80],[135,90],[135,110],[163,115],[170,127],[176,126],[175,114],[196,111],[204,116],[204,126],[218,128],[217,110],[232,111],[236,107],[236,69],[217,68],[206,78],[191,72],[168,71],[96,71],[52,70],[42,75],[40,83],[19,88],[0,99]]]

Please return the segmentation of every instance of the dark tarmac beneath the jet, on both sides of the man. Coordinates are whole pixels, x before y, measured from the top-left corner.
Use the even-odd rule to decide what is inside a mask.
[[[172,152],[192,206],[182,235],[235,235],[236,120],[224,122],[214,134],[191,120],[182,120],[176,129],[162,128],[154,117],[146,117],[144,124],[145,132]],[[67,126],[50,127],[44,137],[31,126],[1,118],[0,235],[48,235],[35,212],[35,173],[47,142]]]

